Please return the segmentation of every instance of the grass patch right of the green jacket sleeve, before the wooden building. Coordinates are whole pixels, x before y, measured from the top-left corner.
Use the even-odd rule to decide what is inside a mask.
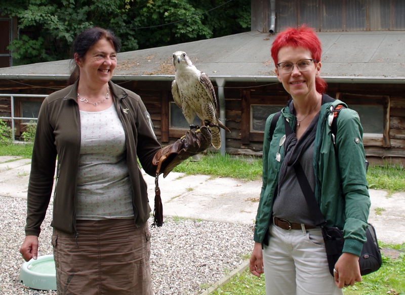
[[[389,194],[405,191],[405,168],[401,165],[369,167],[367,172],[369,188],[387,190]]]

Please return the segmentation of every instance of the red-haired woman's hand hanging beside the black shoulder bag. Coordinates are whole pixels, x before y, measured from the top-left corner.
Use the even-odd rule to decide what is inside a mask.
[[[335,283],[339,288],[361,282],[358,256],[344,252],[335,264]]]

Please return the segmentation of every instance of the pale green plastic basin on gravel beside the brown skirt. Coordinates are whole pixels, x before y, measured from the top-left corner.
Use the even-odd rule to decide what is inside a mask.
[[[56,290],[56,269],[53,255],[38,256],[21,266],[20,281],[37,290]]]

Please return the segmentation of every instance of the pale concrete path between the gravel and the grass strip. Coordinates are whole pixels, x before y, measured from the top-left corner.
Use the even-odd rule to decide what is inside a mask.
[[[0,156],[0,195],[26,198],[30,166],[29,159]],[[153,209],[154,178],[144,174],[144,179]],[[159,177],[165,216],[250,224],[252,227],[261,186],[261,181],[184,176],[175,172],[165,179]],[[375,226],[380,241],[405,243],[405,193],[386,196],[385,191],[370,189],[369,222]]]

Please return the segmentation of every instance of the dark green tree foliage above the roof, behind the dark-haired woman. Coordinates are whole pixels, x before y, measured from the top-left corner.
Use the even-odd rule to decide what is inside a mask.
[[[18,18],[19,38],[8,49],[21,65],[70,58],[74,37],[93,26],[113,30],[123,52],[249,31],[251,1],[228,1],[13,0],[0,11]],[[139,29],[150,26],[157,27]]]

